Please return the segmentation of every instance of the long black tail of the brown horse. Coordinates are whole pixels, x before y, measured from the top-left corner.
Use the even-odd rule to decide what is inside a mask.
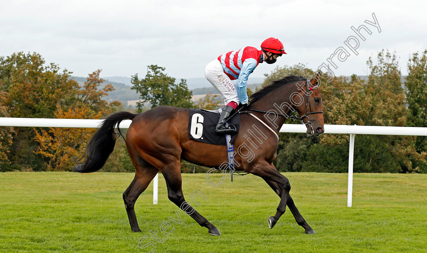
[[[73,168],[74,172],[90,173],[95,172],[104,166],[108,156],[113,152],[118,134],[114,128],[125,119],[133,119],[136,114],[130,112],[116,112],[108,116],[101,124],[99,130],[87,143],[84,153],[85,161],[77,164]],[[119,130],[120,131],[120,130]]]

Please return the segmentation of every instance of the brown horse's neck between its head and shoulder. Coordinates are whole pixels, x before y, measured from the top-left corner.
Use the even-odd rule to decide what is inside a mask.
[[[291,96],[294,94],[294,92],[298,92],[298,90],[294,86],[295,85],[290,84],[284,87],[280,87],[277,90],[266,94],[252,107],[256,110],[269,112],[264,114],[263,121],[265,121],[270,125],[270,127],[276,129],[277,131],[279,131],[282,127],[287,116],[295,111],[295,106],[291,102]],[[285,115],[286,117],[279,116],[280,114]]]

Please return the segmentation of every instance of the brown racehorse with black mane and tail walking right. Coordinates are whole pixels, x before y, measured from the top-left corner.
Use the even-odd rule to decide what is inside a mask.
[[[261,177],[280,197],[276,214],[268,218],[270,229],[288,206],[297,224],[304,228],[304,233],[315,234],[289,195],[289,180],[278,172],[273,161],[277,156],[278,133],[286,118],[299,119],[306,125],[308,135],[317,136],[324,132],[319,82],[319,74],[311,80],[285,76],[253,93],[250,105],[240,107],[238,111],[240,130],[234,146],[240,152],[234,155],[234,169]],[[291,115],[293,111],[300,117]],[[125,119],[132,120],[126,134],[126,147],[135,167],[135,177],[123,193],[123,200],[132,231],[141,232],[135,215],[135,202],[160,171],[166,181],[169,200],[186,211],[200,226],[207,228],[209,234],[221,235],[218,228],[192,206],[187,205],[184,210],[187,202],[182,194],[180,160],[209,168],[220,168],[228,161],[227,146],[198,142],[189,137],[189,109],[158,106],[139,114],[126,111],[111,114],[87,143],[84,162],[73,171],[90,173],[101,169],[121,135],[119,123]],[[257,134],[251,135],[253,138],[250,140],[248,133],[255,132]],[[257,138],[259,145],[254,142]],[[241,147],[246,148],[246,153]],[[249,149],[252,150],[251,159],[248,158]]]

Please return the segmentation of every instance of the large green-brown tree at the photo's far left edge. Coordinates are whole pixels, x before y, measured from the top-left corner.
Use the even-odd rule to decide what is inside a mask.
[[[57,105],[72,104],[78,84],[70,72],[46,65],[38,53],[14,53],[0,57],[0,107],[10,117],[53,117]],[[9,145],[10,170],[43,170],[44,159],[36,154],[36,129],[13,128]]]

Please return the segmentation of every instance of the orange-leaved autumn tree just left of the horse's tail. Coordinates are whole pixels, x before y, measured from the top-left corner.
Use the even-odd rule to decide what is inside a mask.
[[[81,89],[76,91],[76,101],[72,105],[57,106],[55,118],[100,119],[114,111],[120,102],[107,103],[103,98],[114,88],[111,84],[102,89],[98,87],[105,81],[100,78],[101,70],[89,74]],[[86,143],[93,135],[93,129],[50,128],[36,132],[35,140],[39,149],[35,153],[42,155],[49,171],[70,171],[74,166],[74,157],[82,157]]]

